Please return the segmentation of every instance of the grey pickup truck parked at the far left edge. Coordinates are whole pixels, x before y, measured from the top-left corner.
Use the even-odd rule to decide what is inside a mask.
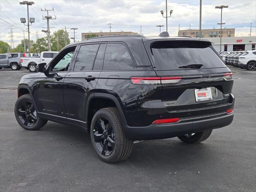
[[[6,53],[1,54],[0,69],[11,68],[12,70],[19,70],[21,68],[20,57],[22,53]]]

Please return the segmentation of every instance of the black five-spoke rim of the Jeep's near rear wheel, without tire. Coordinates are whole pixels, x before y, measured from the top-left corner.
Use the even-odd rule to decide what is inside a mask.
[[[95,146],[102,155],[109,156],[113,152],[115,133],[111,123],[106,118],[99,117],[96,119],[93,137]]]

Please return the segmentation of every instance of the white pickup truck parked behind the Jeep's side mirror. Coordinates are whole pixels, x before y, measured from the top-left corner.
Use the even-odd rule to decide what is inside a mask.
[[[40,57],[22,57],[20,62],[23,68],[28,69],[30,72],[36,72],[37,64],[42,62],[48,64],[57,53],[57,51],[43,51]]]

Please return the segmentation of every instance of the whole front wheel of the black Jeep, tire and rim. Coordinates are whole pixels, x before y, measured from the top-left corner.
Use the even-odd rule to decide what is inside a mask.
[[[47,123],[47,120],[38,117],[29,94],[22,95],[17,99],[14,106],[14,114],[18,124],[26,130],[39,130]]]

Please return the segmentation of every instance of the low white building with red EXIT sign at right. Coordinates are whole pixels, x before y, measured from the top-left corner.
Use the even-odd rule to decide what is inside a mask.
[[[220,51],[220,38],[207,38],[212,42],[214,49]],[[222,37],[221,51],[255,50],[256,36],[253,37]]]

